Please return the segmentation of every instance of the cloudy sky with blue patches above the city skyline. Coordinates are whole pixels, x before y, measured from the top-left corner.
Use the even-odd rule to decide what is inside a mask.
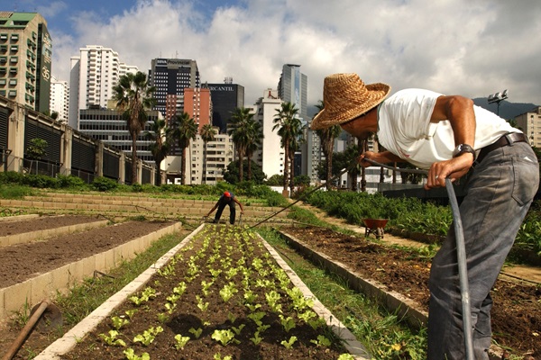
[[[323,80],[358,73],[396,91],[424,87],[541,104],[539,0],[0,0],[41,13],[53,75],[87,44],[146,72],[152,58],[192,58],[203,82],[232,76],[252,104],[276,88],[283,64],[301,66],[308,103]]]

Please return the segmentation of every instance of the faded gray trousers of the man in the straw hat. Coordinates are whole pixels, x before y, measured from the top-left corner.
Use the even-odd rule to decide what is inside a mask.
[[[491,287],[539,184],[536,155],[526,142],[491,151],[468,179],[460,205],[476,359],[491,347]],[[434,257],[429,280],[429,360],[465,359],[462,300],[454,227]]]

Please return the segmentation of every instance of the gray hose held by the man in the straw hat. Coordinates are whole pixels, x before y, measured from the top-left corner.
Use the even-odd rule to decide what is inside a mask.
[[[426,170],[401,169],[399,167],[381,164],[368,158],[363,158],[363,160],[371,163],[374,166],[386,167],[402,173],[413,173],[422,175],[428,174]],[[453,211],[454,237],[456,239],[456,259],[458,263],[458,278],[460,283],[460,293],[463,308],[464,347],[466,349],[466,359],[473,360],[474,354],[472,340],[472,309],[470,307],[470,289],[468,284],[468,268],[466,266],[466,249],[464,246],[463,224],[460,217],[458,202],[456,200],[456,194],[454,193],[453,183],[448,177],[445,178],[445,189],[447,190],[447,196],[449,197],[449,202]]]

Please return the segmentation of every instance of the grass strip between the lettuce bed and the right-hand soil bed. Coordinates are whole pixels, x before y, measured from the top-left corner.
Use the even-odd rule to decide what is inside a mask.
[[[353,332],[372,356],[378,359],[426,358],[426,329],[409,329],[396,314],[372,302],[362,293],[354,292],[336,275],[299,256],[276,231],[261,228],[258,232],[277,249],[317,299]]]

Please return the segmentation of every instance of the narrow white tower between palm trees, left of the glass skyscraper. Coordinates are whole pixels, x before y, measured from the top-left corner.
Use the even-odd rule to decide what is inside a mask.
[[[252,106],[253,119],[260,121],[264,138],[261,139],[261,149],[256,151],[253,160],[258,163],[263,173],[270,178],[272,175],[284,175],[285,151],[280,145],[278,130],[272,130],[274,117],[280,110],[282,101],[276,90],[267,89],[263,96]]]

